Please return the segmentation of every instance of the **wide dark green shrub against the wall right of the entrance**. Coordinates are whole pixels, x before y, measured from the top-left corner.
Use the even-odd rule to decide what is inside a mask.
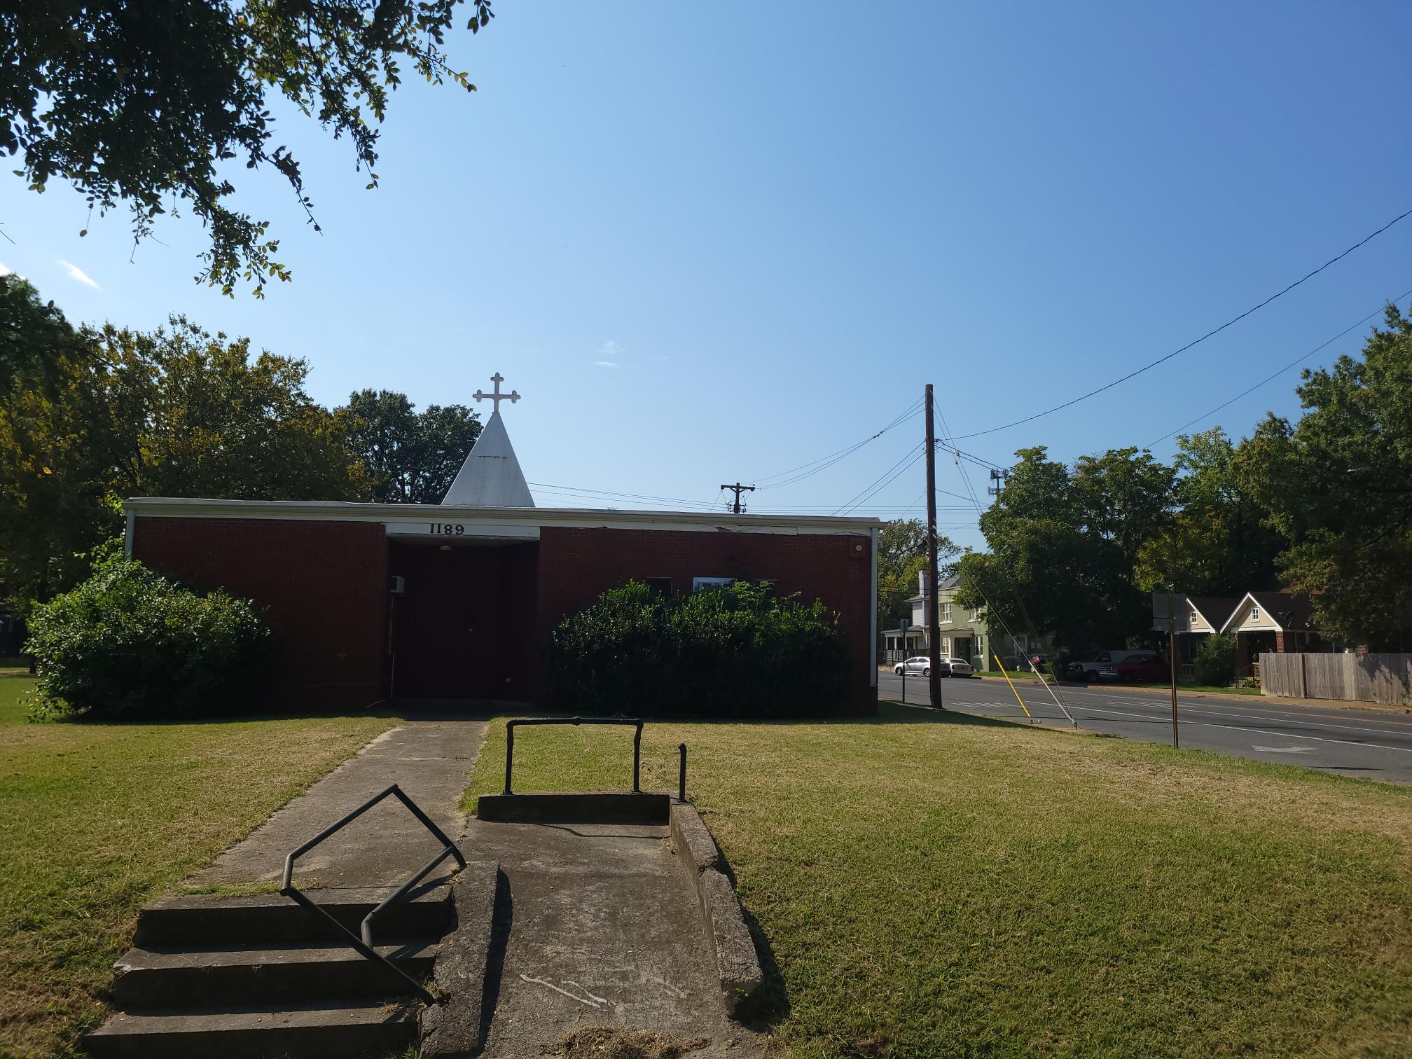
[[[630,582],[561,621],[546,654],[555,705],[573,713],[781,717],[849,705],[837,616],[764,582],[689,596]]]

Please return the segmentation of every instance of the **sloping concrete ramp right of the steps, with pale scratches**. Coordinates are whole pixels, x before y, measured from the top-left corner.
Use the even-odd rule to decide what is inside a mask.
[[[583,822],[592,812],[579,803],[565,813],[579,819],[554,820],[535,795],[513,798],[532,822],[504,819],[515,813],[501,805],[496,822],[467,822],[463,840],[508,881],[496,911],[503,955],[487,983],[484,1055],[541,1055],[593,1028],[690,1042],[682,1052],[703,1059],[758,1055],[755,1035],[726,1014],[693,861],[675,849],[666,815]],[[638,798],[666,805],[662,795]]]

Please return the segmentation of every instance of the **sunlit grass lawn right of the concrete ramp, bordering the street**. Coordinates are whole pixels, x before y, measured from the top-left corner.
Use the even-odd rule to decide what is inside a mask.
[[[1408,1055],[1412,791],[897,705],[650,723],[647,789],[679,741],[789,1055]],[[467,803],[503,760],[497,723]],[[527,729],[515,786],[630,762],[626,731]]]

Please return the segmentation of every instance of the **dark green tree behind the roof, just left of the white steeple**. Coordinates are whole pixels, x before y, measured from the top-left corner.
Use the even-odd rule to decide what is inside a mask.
[[[363,457],[373,500],[439,504],[480,436],[466,405],[428,405],[418,412],[407,394],[360,390],[339,412],[349,419],[349,443]]]

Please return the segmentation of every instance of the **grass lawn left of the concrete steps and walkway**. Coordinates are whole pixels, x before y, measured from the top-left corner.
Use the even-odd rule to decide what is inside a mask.
[[[395,723],[24,722],[0,678],[0,1056],[68,1055],[137,909]]]

